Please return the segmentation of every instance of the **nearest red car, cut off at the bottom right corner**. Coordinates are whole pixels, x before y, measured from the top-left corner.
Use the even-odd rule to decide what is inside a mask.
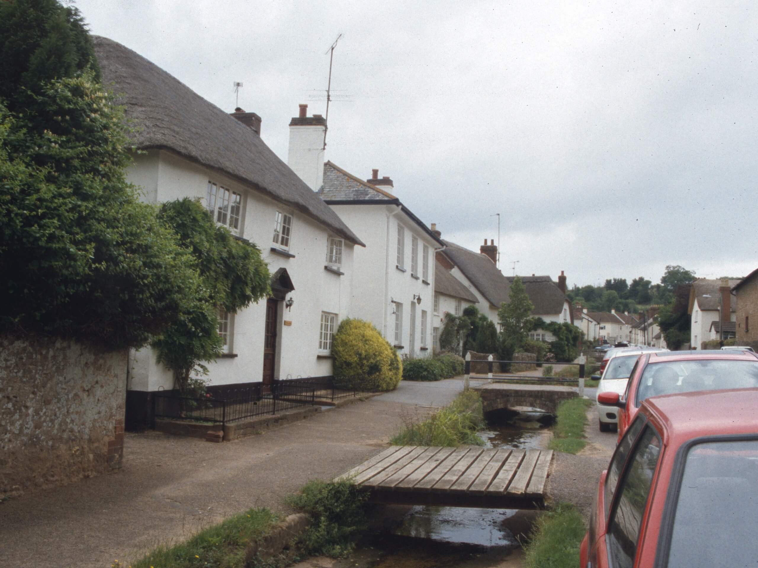
[[[580,568],[758,560],[758,389],[649,398],[600,475]]]

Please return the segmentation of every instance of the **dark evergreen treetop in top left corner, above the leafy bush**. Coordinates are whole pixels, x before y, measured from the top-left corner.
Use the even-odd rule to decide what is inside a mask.
[[[52,80],[100,71],[92,39],[77,8],[56,0],[0,2],[0,98],[11,112],[28,110]],[[44,125],[37,120],[38,125]]]

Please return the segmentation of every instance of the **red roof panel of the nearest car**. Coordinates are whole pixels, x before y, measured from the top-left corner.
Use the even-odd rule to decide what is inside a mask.
[[[758,389],[729,389],[654,396],[640,411],[662,426],[664,442],[681,445],[707,435],[758,435],[756,407]]]

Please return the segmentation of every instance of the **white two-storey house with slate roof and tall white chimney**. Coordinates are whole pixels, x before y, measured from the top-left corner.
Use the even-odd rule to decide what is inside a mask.
[[[370,321],[399,354],[431,355],[434,252],[443,247],[393,193],[393,181],[360,179],[324,164],[326,121],[300,105],[290,122],[287,163],[348,226],[360,227],[366,248],[356,250],[352,316]]]

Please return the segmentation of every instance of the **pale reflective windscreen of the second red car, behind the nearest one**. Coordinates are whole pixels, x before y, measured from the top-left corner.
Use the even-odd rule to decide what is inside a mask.
[[[758,361],[725,359],[648,364],[637,389],[636,405],[651,396],[758,387]]]

